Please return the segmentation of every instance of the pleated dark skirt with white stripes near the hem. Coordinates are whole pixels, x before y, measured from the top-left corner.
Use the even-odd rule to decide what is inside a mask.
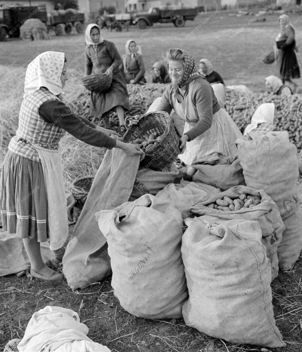
[[[47,240],[47,200],[42,164],[8,151],[1,171],[3,230]]]

